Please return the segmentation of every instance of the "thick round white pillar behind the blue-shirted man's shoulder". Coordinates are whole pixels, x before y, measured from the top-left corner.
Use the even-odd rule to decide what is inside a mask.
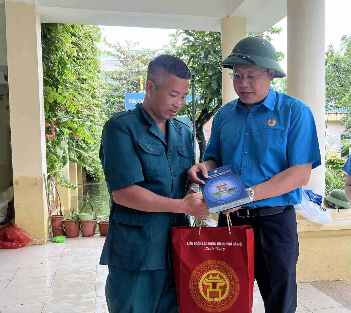
[[[324,195],[325,0],[287,0],[287,93],[312,109],[322,165],[306,189]],[[303,149],[303,147],[301,147]]]

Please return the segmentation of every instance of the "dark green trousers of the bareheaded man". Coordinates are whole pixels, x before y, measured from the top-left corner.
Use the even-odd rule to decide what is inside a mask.
[[[130,271],[108,266],[109,313],[178,313],[173,269]]]

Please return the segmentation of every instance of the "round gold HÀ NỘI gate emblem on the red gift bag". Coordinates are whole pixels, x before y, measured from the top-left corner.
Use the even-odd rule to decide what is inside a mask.
[[[230,308],[239,295],[239,279],[225,262],[210,260],[201,263],[190,277],[190,293],[195,303],[207,312]]]

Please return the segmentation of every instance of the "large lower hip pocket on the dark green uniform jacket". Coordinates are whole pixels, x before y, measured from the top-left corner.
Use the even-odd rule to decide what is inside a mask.
[[[152,213],[121,208],[114,212],[111,249],[126,258],[144,259],[149,251]]]

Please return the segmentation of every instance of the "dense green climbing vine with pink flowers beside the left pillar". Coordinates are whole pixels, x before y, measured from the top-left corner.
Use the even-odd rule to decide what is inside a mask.
[[[100,73],[100,28],[42,24],[42,56],[48,175],[73,187],[61,173],[69,161],[102,177],[99,144],[107,120]]]

